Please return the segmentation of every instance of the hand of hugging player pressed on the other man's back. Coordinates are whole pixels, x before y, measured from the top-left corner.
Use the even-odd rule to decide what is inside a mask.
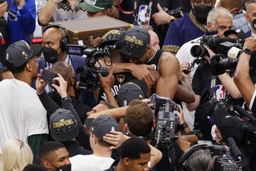
[[[148,69],[151,69],[150,65],[133,65],[131,68],[131,73],[137,79],[143,79],[148,89],[151,89],[151,87],[155,84],[155,79]]]

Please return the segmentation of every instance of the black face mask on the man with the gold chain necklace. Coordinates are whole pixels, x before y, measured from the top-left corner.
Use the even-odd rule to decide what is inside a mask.
[[[213,6],[199,5],[194,6],[193,13],[196,16],[196,20],[201,24],[206,24],[207,16]]]

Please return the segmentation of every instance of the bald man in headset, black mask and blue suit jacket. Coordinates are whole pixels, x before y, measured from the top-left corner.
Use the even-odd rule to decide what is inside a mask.
[[[68,43],[68,31],[60,25],[50,25],[43,31],[43,58],[38,60],[38,71],[44,68],[50,68],[55,62],[65,61],[72,66],[73,71],[78,67],[85,66],[85,57],[76,55],[67,55],[66,44]],[[75,79],[79,81],[78,75]],[[46,87],[46,91],[50,92],[52,89]],[[82,91],[83,102],[90,107],[96,105],[96,101],[92,92]]]

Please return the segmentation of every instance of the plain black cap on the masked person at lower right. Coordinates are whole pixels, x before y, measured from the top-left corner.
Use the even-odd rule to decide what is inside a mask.
[[[213,112],[213,120],[225,141],[229,137],[234,138],[236,142],[244,140],[245,128],[242,126],[241,121],[235,116],[230,116],[225,109],[216,109]]]

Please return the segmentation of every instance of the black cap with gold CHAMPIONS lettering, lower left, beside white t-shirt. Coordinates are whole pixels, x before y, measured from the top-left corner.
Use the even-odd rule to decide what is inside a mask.
[[[50,135],[63,142],[78,136],[79,126],[75,116],[66,109],[58,109],[50,116]]]

